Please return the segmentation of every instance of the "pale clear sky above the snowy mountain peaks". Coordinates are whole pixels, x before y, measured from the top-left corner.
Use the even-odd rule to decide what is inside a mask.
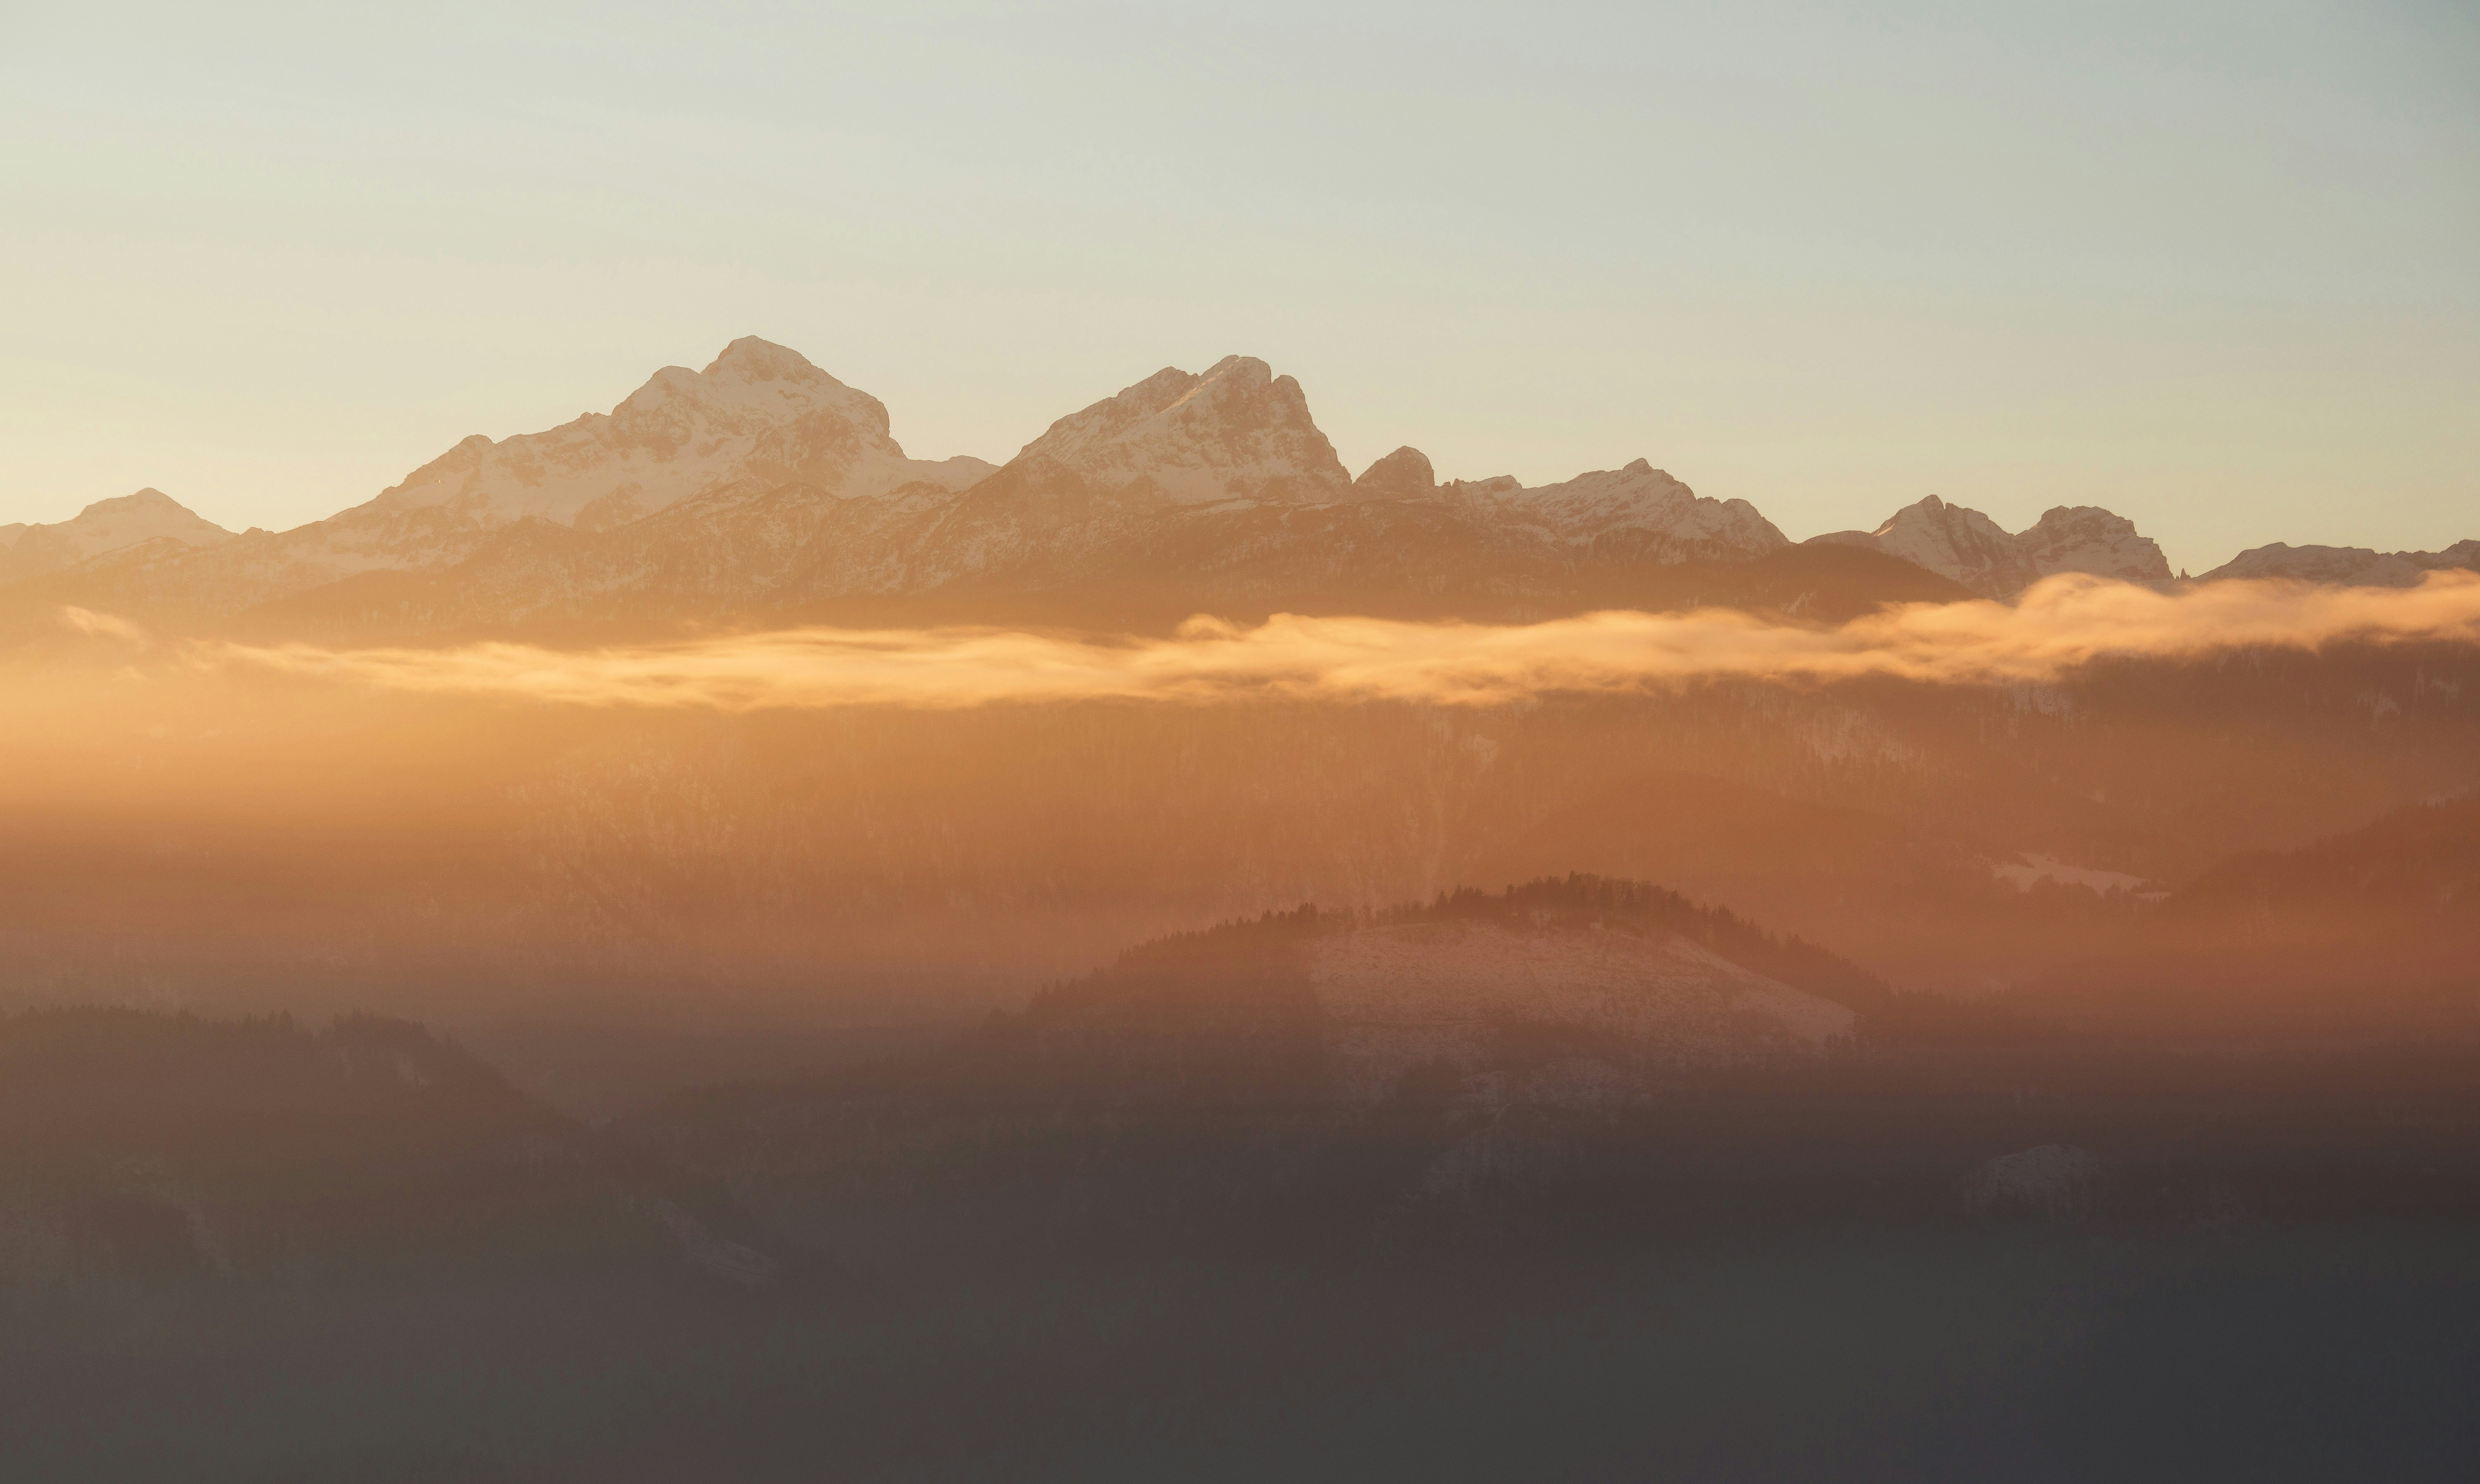
[[[0,0],[0,521],[295,526],[737,335],[915,457],[1242,352],[1354,472],[2435,548],[2480,7]]]

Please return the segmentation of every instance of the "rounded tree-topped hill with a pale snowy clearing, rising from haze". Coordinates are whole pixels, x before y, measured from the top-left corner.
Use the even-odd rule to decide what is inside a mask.
[[[1456,1084],[1610,1104],[1681,1075],[1862,1040],[2019,1035],[1676,891],[1602,876],[1376,911],[1267,911],[1128,948],[1002,1015],[975,1077],[1131,1097],[1342,1097]]]

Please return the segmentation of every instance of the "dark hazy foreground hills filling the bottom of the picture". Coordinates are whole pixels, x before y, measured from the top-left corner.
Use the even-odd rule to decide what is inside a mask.
[[[0,1072],[12,1479],[2453,1479],[2480,1444],[2468,1055],[1924,1015],[1634,883],[1176,936],[608,1129],[402,1022],[20,1015]]]

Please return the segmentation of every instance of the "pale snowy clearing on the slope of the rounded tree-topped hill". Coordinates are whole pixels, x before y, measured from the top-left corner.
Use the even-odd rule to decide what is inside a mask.
[[[1337,1075],[1366,1099],[1426,1062],[1490,1072],[1508,1037],[1555,1052],[1518,1057],[1535,1092],[1602,1099],[1612,1072],[1808,1055],[1855,1020],[1676,933],[1619,928],[1362,928],[1309,948],[1309,985]]]

